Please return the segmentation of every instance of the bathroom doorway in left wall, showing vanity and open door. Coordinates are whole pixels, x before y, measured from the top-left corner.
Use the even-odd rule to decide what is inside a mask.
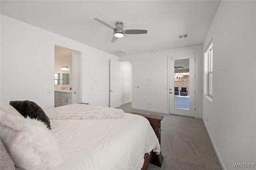
[[[65,96],[66,100],[54,96],[55,107],[82,101],[81,58],[80,51],[54,46],[54,91],[68,95]]]

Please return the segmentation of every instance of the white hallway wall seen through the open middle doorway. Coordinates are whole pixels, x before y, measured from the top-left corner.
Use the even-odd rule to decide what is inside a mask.
[[[120,62],[121,105],[132,101],[132,61]]]

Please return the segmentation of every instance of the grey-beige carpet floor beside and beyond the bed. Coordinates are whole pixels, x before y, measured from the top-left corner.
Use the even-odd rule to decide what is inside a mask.
[[[150,164],[148,170],[221,170],[220,163],[202,119],[132,109],[131,102],[117,109],[162,115],[162,167]]]

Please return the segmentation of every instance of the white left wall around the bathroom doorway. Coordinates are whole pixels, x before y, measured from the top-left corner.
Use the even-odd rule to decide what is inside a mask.
[[[82,102],[108,106],[109,59],[118,57],[4,15],[1,102],[31,100],[43,109],[54,107],[54,45],[82,52]]]

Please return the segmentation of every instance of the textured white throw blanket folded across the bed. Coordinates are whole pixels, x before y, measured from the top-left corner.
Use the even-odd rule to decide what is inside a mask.
[[[124,111],[98,105],[72,104],[45,111],[49,119],[122,119]]]

